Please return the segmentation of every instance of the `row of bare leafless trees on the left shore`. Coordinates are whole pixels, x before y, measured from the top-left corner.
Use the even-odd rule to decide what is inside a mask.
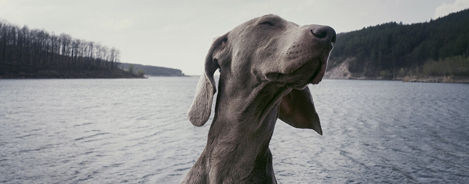
[[[93,41],[0,20],[0,65],[40,69],[115,69],[120,51]]]

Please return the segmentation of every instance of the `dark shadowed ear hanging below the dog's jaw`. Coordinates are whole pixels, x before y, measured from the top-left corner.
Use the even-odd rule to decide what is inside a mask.
[[[322,135],[319,116],[314,109],[310,89],[292,89],[282,97],[278,118],[295,128],[309,128]]]

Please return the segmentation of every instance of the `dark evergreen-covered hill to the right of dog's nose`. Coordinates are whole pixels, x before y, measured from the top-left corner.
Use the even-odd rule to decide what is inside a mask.
[[[469,9],[337,35],[327,78],[469,78]]]

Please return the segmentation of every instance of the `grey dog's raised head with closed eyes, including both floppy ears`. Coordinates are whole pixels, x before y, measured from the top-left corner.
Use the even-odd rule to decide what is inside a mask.
[[[322,135],[319,117],[307,84],[322,80],[336,40],[328,26],[298,26],[276,15],[249,20],[215,38],[205,58],[205,72],[197,85],[188,117],[195,126],[208,120],[220,69],[238,83],[276,84],[291,90],[279,105],[279,118],[297,128]]]

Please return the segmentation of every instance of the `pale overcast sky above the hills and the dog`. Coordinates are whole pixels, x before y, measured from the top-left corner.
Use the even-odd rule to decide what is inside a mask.
[[[213,38],[265,14],[342,33],[466,8],[469,0],[0,0],[0,19],[115,46],[121,62],[199,75]]]

